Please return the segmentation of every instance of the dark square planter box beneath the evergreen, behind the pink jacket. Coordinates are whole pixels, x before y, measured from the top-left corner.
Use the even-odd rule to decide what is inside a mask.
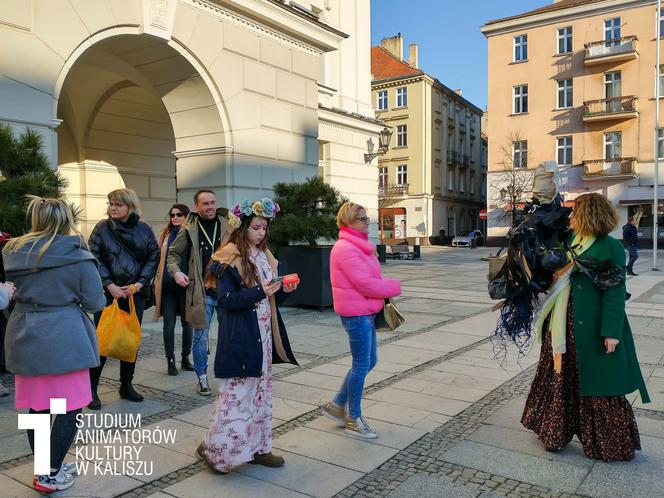
[[[288,246],[279,249],[282,275],[297,273],[300,285],[288,295],[285,306],[332,306],[330,284],[330,254],[332,246]]]

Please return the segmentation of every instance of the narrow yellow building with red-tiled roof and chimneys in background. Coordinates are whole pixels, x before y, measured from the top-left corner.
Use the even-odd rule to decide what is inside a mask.
[[[390,149],[377,160],[383,239],[438,236],[482,228],[486,169],[482,111],[418,68],[418,47],[404,59],[403,38],[372,48],[376,117],[392,127]]]

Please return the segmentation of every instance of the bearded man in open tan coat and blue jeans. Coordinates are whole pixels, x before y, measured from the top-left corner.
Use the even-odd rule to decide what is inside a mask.
[[[216,310],[217,290],[205,288],[205,269],[214,252],[230,234],[228,210],[217,209],[217,198],[212,190],[202,189],[194,195],[194,211],[182,225],[168,250],[166,266],[175,283],[187,289],[185,320],[194,329],[194,370],[198,377],[198,393],[210,396],[212,389],[207,377],[209,331],[212,314]],[[183,267],[183,261],[187,266]]]

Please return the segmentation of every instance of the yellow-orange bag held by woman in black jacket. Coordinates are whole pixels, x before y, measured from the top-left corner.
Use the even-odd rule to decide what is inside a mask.
[[[129,313],[120,309],[117,299],[104,308],[97,325],[97,341],[101,356],[133,363],[141,344],[141,324],[138,323],[134,296],[128,299]]]

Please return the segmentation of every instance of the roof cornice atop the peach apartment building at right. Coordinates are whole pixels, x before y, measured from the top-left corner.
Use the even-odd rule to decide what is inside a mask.
[[[646,5],[653,5],[655,3],[656,0],[605,0],[603,2],[577,5],[575,7],[542,12],[540,14],[527,15],[523,17],[516,16],[515,18],[505,19],[504,21],[485,24],[480,28],[480,31],[484,34],[484,36],[489,38],[491,36],[502,35],[518,30],[536,28],[540,26],[546,26],[548,24],[557,24],[565,21],[573,21],[575,19],[606,14],[608,12],[628,10],[635,7],[644,7]]]

